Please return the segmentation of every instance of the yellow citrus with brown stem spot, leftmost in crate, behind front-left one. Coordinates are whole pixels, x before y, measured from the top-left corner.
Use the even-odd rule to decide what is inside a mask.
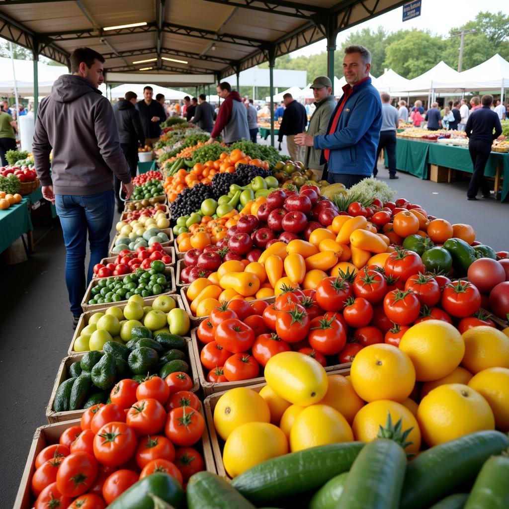
[[[247,387],[225,392],[214,408],[214,427],[226,440],[235,428],[246,422],[270,422],[270,410],[261,395]]]

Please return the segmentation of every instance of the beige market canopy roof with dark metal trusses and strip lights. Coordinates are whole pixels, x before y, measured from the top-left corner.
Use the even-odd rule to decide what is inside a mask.
[[[36,59],[42,54],[66,65],[74,48],[87,45],[105,56],[109,82],[136,82],[135,75],[184,86],[214,82],[325,38],[334,45],[338,32],[404,3],[3,0],[0,37],[30,48]],[[145,76],[140,69],[149,67]]]

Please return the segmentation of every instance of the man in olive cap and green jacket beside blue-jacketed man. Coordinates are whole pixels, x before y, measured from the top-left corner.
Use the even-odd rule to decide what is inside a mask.
[[[328,76],[318,76],[315,78],[310,89],[313,89],[315,97],[315,111],[309,119],[307,134],[317,136],[327,132],[329,120],[336,107],[336,101],[330,94],[332,93],[332,83]],[[306,147],[304,156],[304,167],[312,169],[316,180],[322,179],[324,164],[320,164],[322,151],[314,147]]]

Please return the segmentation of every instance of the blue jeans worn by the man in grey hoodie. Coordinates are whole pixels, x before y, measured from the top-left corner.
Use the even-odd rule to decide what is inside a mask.
[[[90,242],[90,264],[87,285],[94,265],[108,256],[109,232],[113,224],[115,191],[88,196],[55,195],[56,213],[60,218],[66,247],[65,281],[73,316],[81,315],[85,294],[85,256],[87,231]]]

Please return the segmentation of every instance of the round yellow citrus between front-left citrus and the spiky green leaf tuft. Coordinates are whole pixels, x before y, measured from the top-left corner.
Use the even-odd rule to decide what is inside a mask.
[[[345,417],[328,405],[311,405],[304,408],[297,415],[290,430],[292,452],[352,440],[352,428]]]

